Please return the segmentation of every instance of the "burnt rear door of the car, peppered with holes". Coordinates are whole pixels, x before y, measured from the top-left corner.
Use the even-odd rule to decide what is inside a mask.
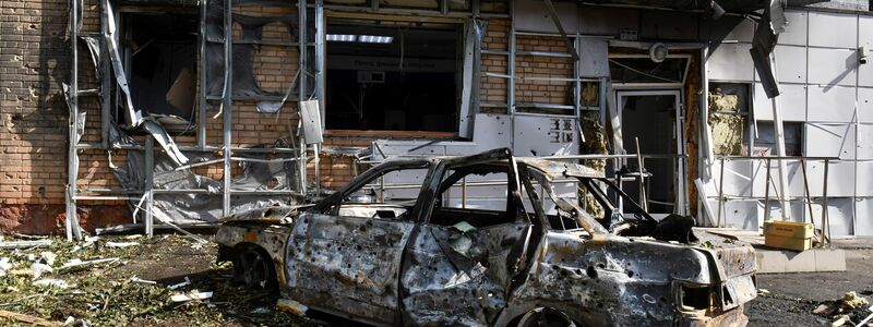
[[[400,275],[405,325],[485,326],[506,305],[533,230],[514,167],[500,164],[446,166],[423,204]]]

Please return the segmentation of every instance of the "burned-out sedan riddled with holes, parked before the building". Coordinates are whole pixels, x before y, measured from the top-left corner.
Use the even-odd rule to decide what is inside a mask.
[[[403,174],[417,182],[384,183]],[[373,325],[745,325],[753,249],[692,222],[653,219],[586,166],[494,149],[388,160],[216,240],[238,280]]]

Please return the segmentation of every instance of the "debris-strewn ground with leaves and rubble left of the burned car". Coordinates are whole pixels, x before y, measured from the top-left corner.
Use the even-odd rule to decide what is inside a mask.
[[[230,264],[215,264],[213,242],[199,244],[181,235],[112,237],[84,243],[51,240],[49,247],[0,250],[0,263],[8,263],[0,265],[5,275],[0,277],[0,310],[74,326],[314,325],[276,311],[275,292],[232,283]],[[108,246],[117,243],[128,246]],[[107,261],[70,267],[95,259]],[[186,278],[190,284],[184,284]],[[184,286],[170,289],[180,283]],[[195,291],[212,296],[170,300]],[[29,325],[0,317],[0,325],[16,324]]]

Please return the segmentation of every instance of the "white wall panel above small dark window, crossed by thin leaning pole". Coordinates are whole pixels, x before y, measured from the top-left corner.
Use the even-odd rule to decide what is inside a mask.
[[[806,120],[806,85],[779,84],[784,121]],[[773,101],[761,83],[755,83],[754,113],[757,120],[773,120]]]

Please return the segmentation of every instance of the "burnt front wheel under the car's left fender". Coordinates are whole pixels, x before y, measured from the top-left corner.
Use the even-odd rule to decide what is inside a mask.
[[[234,259],[234,281],[256,290],[272,290],[276,286],[273,259],[262,250],[247,246]]]

